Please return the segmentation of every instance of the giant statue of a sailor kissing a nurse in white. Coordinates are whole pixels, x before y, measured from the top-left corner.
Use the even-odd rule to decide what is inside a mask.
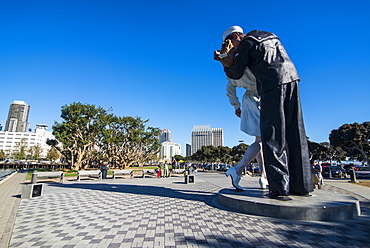
[[[222,36],[223,48],[214,59],[224,66],[227,95],[241,117],[241,130],[255,136],[243,159],[227,172],[239,185],[245,166],[256,157],[262,170],[261,188],[268,185],[272,198],[310,196],[313,191],[308,143],[298,91],[297,70],[279,38],[253,30],[244,34],[232,26]],[[236,87],[246,93],[240,106]]]

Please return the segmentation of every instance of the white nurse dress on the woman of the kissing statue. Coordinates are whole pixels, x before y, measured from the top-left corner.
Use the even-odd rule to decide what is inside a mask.
[[[247,67],[243,77],[238,80],[227,78],[226,95],[229,97],[230,104],[235,109],[240,108],[241,121],[240,130],[251,136],[261,136],[260,130],[260,110],[261,101],[257,93],[256,78]],[[236,87],[245,88],[242,106],[236,94]]]

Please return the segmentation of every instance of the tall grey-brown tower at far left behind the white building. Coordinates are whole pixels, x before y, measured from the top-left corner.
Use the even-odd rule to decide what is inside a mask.
[[[5,130],[8,132],[27,132],[30,124],[28,114],[30,105],[24,101],[14,101],[10,104],[8,119],[6,120]]]

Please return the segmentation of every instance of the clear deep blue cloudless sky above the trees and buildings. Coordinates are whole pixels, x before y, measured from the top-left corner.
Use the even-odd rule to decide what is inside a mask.
[[[229,147],[251,143],[213,60],[240,25],[280,37],[301,77],[307,136],[328,141],[369,121],[369,10],[367,0],[2,0],[0,123],[14,100],[31,105],[32,129],[81,102],[150,119],[183,153],[194,125],[223,128]]]

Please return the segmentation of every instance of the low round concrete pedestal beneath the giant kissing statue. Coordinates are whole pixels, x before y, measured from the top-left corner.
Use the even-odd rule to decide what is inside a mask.
[[[271,199],[268,190],[222,189],[218,194],[221,205],[247,214],[292,220],[338,221],[361,214],[358,199],[332,191],[315,190],[310,197],[289,196],[290,201]]]

